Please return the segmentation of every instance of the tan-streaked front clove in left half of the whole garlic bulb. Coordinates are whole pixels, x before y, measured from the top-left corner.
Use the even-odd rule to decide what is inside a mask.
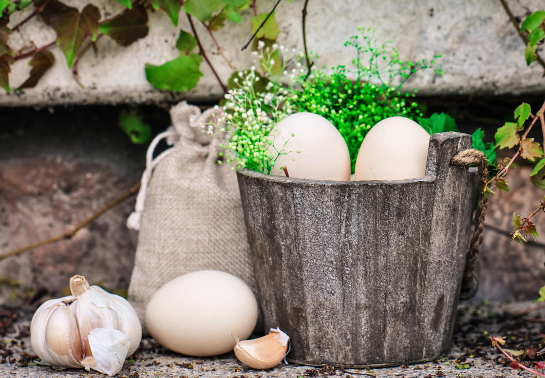
[[[81,368],[81,339],[70,307],[60,302],[44,311],[46,313],[49,315],[44,343],[44,351],[49,356],[47,362],[57,367]]]

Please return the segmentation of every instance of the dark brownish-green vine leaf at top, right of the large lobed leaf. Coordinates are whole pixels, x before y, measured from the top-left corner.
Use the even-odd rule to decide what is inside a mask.
[[[111,21],[100,25],[102,34],[108,35],[122,46],[129,46],[146,37],[148,31],[148,13],[141,3],[135,3],[132,9],[125,10]]]

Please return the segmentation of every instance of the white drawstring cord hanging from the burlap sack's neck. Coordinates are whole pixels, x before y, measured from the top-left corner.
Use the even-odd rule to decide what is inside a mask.
[[[167,139],[167,144],[172,146],[176,136],[178,136],[178,133],[176,133],[174,128],[171,126],[167,129],[167,131],[164,131],[156,136],[148,147],[148,152],[146,153],[146,170],[144,170],[142,175],[142,186],[140,187],[140,191],[138,191],[138,195],[136,196],[135,211],[132,212],[129,219],[127,219],[127,227],[129,227],[131,230],[140,230],[142,212],[144,211],[144,202],[146,201],[146,190],[148,189],[149,180],[152,178],[153,170],[159,165],[159,163],[161,163],[163,159],[168,156],[169,153],[172,152],[172,148],[169,148],[154,159],[153,153],[155,151],[155,147],[157,147],[161,139],[164,138]]]

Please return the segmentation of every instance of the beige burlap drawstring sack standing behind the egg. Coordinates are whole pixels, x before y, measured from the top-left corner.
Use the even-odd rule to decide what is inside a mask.
[[[131,228],[140,224],[129,302],[145,334],[150,297],[185,273],[216,269],[234,274],[258,298],[237,175],[232,165],[217,163],[225,135],[208,135],[201,127],[215,122],[213,115],[219,117],[220,111],[201,114],[184,101],[171,110],[173,130],[150,145],[136,211],[128,221]],[[174,147],[153,160],[162,137]]]

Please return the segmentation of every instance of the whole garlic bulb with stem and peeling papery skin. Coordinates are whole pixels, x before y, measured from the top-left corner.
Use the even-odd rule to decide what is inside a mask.
[[[81,275],[70,279],[70,291],[71,296],[42,304],[32,317],[34,352],[56,367],[116,375],[142,338],[135,310]]]

